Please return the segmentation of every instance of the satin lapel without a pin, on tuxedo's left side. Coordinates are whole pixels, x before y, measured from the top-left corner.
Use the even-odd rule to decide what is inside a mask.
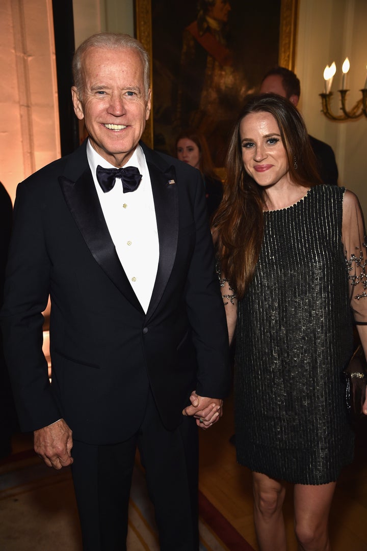
[[[116,253],[89,166],[75,182],[65,176],[60,176],[58,181],[72,217],[95,261],[127,300],[143,312]]]

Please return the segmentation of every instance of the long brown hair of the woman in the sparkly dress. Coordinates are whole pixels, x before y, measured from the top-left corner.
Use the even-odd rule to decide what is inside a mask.
[[[276,94],[249,96],[233,128],[224,196],[212,222],[222,272],[240,299],[251,283],[259,258],[265,205],[264,188],[243,168],[240,124],[246,115],[263,111],[273,115],[278,124],[291,180],[304,187],[322,183],[304,120],[296,107]]]

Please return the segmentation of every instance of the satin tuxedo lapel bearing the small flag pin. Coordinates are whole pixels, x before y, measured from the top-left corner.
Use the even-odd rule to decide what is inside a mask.
[[[176,174],[173,166],[166,164],[165,170],[148,160],[153,199],[156,209],[157,230],[159,239],[159,262],[156,282],[147,311],[147,320],[151,317],[162,298],[164,289],[171,275],[177,251],[178,239],[178,190],[175,183]]]

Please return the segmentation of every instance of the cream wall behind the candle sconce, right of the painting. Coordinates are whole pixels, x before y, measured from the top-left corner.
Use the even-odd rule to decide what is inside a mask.
[[[357,193],[367,217],[367,119],[336,122],[321,113],[323,70],[333,61],[332,109],[339,114],[342,64],[350,61],[347,107],[360,98],[367,64],[366,0],[300,0],[296,73],[301,80],[300,109],[310,134],[329,143],[337,158],[339,185]]]

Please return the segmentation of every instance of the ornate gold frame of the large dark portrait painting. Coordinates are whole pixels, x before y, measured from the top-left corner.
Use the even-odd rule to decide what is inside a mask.
[[[136,37],[152,60],[152,0],[135,0],[135,32]],[[280,0],[280,25],[279,25],[279,54],[278,63],[282,67],[288,67],[294,70],[295,52],[296,52],[296,32],[297,32],[297,9],[298,0]],[[151,86],[153,81],[153,63],[151,63]],[[153,99],[152,99],[153,114]],[[153,140],[153,115],[151,114],[145,132],[143,141],[149,146],[154,147]]]

